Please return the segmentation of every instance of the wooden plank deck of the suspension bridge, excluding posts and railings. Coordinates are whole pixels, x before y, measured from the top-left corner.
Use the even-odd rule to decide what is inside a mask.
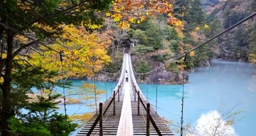
[[[129,74],[128,82],[125,82],[125,71],[127,71]],[[106,113],[103,115],[103,135],[146,135],[147,113],[142,103],[140,102],[140,112],[138,115],[138,95],[136,93],[135,101],[134,86],[136,90],[140,90],[135,80],[135,76],[132,70],[131,57],[129,54],[124,54],[123,56],[122,72],[118,85],[122,86],[119,92],[119,94],[122,95],[119,95],[119,102],[118,94],[115,96],[115,115],[113,115],[113,102],[108,108],[108,111],[106,111]],[[115,89],[115,91],[117,91],[117,89]],[[103,103],[102,111],[105,111],[112,98],[113,93],[112,96]],[[148,103],[141,91],[140,98],[142,99],[144,105]],[[159,117],[152,106],[150,107],[150,115],[162,135],[174,135],[172,131],[170,131],[169,127],[165,124],[165,121]],[[77,135],[87,135],[97,117],[98,114],[95,114],[93,118],[80,129]],[[100,127],[98,122],[91,135],[99,135],[99,130]],[[152,123],[150,123],[150,135],[158,135]]]

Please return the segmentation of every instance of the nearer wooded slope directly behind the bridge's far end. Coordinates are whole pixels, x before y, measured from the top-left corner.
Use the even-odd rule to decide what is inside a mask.
[[[190,50],[207,40],[206,34],[209,34],[211,26],[206,22],[206,14],[200,1],[175,3],[175,15],[180,19],[175,25],[169,23],[166,15],[156,15],[149,17],[142,23],[132,23],[129,30],[112,29],[115,34],[109,53],[111,53],[112,58],[115,58],[112,59],[115,70],[120,68],[121,46],[125,46],[125,44],[132,46],[131,53],[136,72],[145,73],[174,60],[183,55],[186,50]],[[106,26],[106,28],[110,27]],[[115,28],[113,24],[112,28]],[[178,60],[151,75],[144,75],[139,78],[150,83],[155,78],[161,78],[162,84],[180,84],[182,81],[180,71],[190,71],[195,66],[209,65],[212,58],[211,49],[205,46],[189,53],[186,62],[183,59]],[[110,68],[106,70],[111,72]],[[188,76],[185,78],[187,81]]]

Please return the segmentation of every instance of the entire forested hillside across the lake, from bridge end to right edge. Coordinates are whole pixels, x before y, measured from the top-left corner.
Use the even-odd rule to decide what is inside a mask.
[[[146,73],[168,61],[183,55],[204,41],[214,37],[223,30],[236,24],[255,10],[255,2],[248,1],[177,1],[175,14],[181,20],[179,26],[170,25],[164,15],[151,17],[141,24],[131,24],[129,30],[119,30],[111,52],[117,52],[121,44],[133,45],[132,55],[138,73]],[[254,17],[255,18],[255,17]],[[152,82],[161,78],[162,84],[179,84],[180,71],[193,70],[195,66],[208,66],[212,59],[255,63],[255,21],[239,25],[236,29],[225,33],[206,46],[188,55],[187,61],[179,60],[169,64],[151,75],[140,77]],[[119,53],[118,53],[119,52]],[[120,55],[113,56],[113,64],[120,64]],[[119,59],[117,59],[119,58]],[[117,65],[116,65],[117,64]],[[107,69],[108,70],[108,69]],[[186,77],[187,79],[188,77]]]

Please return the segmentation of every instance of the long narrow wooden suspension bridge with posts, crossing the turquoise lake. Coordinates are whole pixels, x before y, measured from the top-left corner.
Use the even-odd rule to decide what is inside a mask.
[[[130,53],[123,54],[112,95],[100,103],[97,113],[76,135],[174,135],[140,90]]]

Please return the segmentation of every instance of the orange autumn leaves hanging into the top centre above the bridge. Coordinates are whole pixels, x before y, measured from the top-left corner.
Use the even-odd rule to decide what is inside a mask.
[[[106,16],[119,22],[121,29],[129,28],[131,23],[141,23],[148,16],[156,16],[157,14],[165,15],[171,25],[181,25],[182,22],[176,19],[173,13],[174,3],[175,0],[116,0]]]

